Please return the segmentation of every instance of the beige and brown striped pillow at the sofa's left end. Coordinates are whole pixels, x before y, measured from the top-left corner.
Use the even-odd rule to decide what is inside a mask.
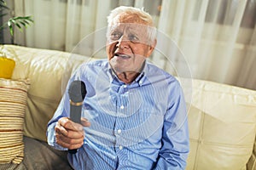
[[[28,80],[0,78],[0,163],[20,163],[24,157],[23,125]]]

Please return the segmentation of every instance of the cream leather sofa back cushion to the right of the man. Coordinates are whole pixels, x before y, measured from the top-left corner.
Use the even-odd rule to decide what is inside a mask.
[[[246,169],[256,127],[256,91],[193,80],[187,169]]]

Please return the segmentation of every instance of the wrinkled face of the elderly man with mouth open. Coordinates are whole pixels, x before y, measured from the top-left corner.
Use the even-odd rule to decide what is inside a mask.
[[[110,65],[118,74],[141,71],[144,60],[153,52],[149,45],[148,26],[118,23],[108,32],[107,53]]]

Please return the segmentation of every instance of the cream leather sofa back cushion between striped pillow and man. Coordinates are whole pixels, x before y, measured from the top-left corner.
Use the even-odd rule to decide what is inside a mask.
[[[24,134],[46,141],[47,123],[61,100],[62,88],[65,88],[71,73],[87,58],[15,45],[3,45],[2,51],[16,62],[12,78],[29,78],[31,81]]]

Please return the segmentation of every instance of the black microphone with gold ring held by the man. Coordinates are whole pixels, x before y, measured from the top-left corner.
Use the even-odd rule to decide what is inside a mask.
[[[73,122],[81,123],[81,112],[85,94],[86,88],[84,82],[76,80],[70,84],[68,95],[70,102],[70,119]],[[75,154],[77,149],[68,150],[68,152]]]

